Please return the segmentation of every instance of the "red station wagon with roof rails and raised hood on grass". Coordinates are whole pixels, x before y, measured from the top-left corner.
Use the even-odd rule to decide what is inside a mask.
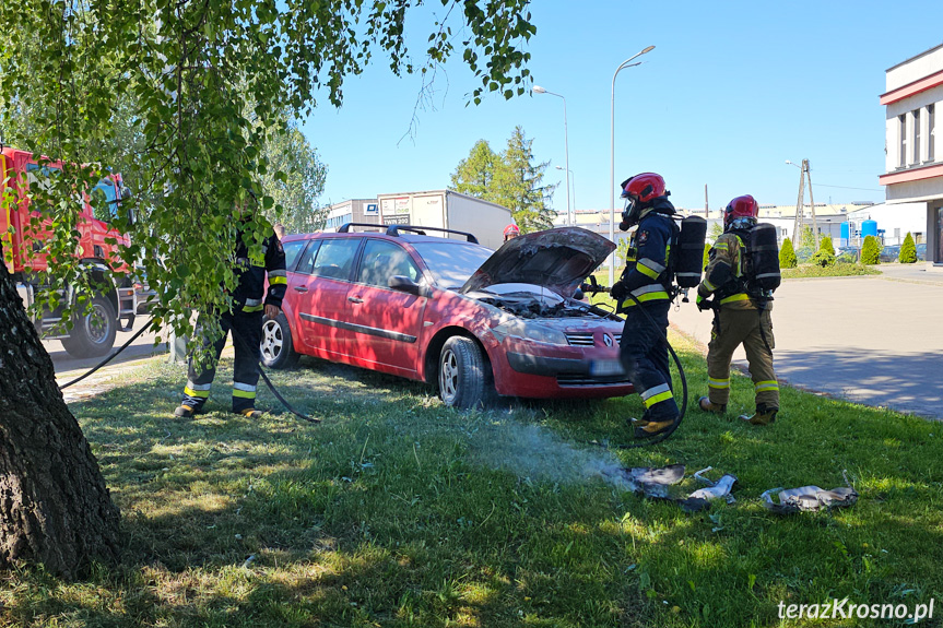
[[[622,319],[571,298],[614,249],[602,236],[567,227],[492,251],[471,234],[351,226],[368,225],[282,240],[288,289],[283,313],[264,323],[267,366],[310,355],[425,381],[461,408],[496,394],[633,392],[617,362]]]

